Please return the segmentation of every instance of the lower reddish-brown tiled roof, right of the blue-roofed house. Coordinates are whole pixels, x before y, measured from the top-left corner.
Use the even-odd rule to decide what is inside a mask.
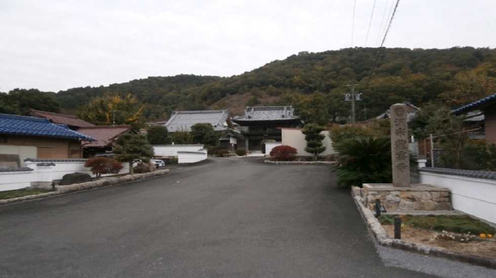
[[[106,147],[112,144],[112,141],[122,133],[131,129],[130,125],[100,125],[84,126],[77,129],[78,132],[89,135],[97,141],[85,144],[84,147]]]

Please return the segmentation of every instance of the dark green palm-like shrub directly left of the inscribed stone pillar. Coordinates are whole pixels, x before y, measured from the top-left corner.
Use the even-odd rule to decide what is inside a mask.
[[[391,139],[365,137],[345,140],[338,153],[338,188],[362,187],[362,183],[391,183]]]

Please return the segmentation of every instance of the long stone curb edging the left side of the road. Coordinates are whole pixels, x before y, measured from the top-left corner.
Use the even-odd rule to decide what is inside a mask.
[[[28,196],[23,196],[23,197],[19,197],[19,198],[0,200],[0,205],[6,205],[6,204],[19,203],[19,202],[24,202],[24,201],[29,201],[29,200],[47,198],[47,197],[51,197],[51,196],[67,194],[67,193],[72,193],[72,192],[77,192],[77,191],[84,191],[84,190],[90,190],[90,189],[95,189],[95,188],[114,186],[116,184],[121,184],[121,183],[141,180],[141,179],[148,179],[148,178],[153,178],[153,177],[157,177],[157,176],[167,175],[167,174],[169,174],[169,172],[170,172],[169,169],[163,169],[163,170],[156,170],[156,171],[149,172],[149,173],[125,175],[125,176],[120,176],[120,177],[103,177],[103,178],[98,179],[98,180],[83,182],[83,183],[70,184],[68,186],[56,186],[55,188],[57,189],[57,191],[55,191],[55,192],[48,192],[48,193],[43,193],[43,194],[28,195]]]

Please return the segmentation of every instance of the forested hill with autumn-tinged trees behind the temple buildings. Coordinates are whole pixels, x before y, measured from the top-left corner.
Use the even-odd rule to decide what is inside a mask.
[[[350,114],[343,95],[350,90],[347,85],[356,83],[357,92],[362,93],[356,109],[360,120],[403,101],[421,106],[443,100],[456,107],[494,88],[496,50],[383,49],[371,74],[378,51],[301,52],[232,77],[148,77],[72,88],[58,92],[56,98],[65,112],[75,112],[89,98],[105,92],[131,93],[146,105],[144,116],[148,120],[167,119],[172,110],[229,109],[239,115],[245,106],[257,105],[294,105],[300,114],[321,107],[329,118],[336,118]]]

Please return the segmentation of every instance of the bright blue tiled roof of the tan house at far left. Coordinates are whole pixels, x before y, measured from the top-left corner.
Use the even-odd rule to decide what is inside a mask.
[[[95,141],[91,136],[69,129],[66,125],[53,124],[45,118],[0,114],[0,133],[74,138]]]

